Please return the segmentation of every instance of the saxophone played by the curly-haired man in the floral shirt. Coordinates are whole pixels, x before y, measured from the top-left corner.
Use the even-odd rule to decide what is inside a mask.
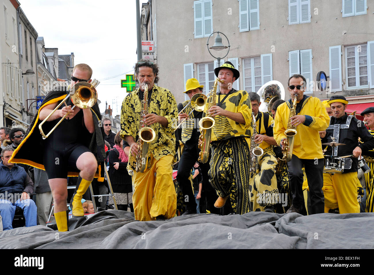
[[[141,111],[140,111],[140,126],[138,133],[138,155],[137,155],[137,172],[144,172],[147,167],[148,160],[148,148],[149,143],[154,140],[156,134],[154,130],[147,126],[147,123],[144,121],[144,116],[148,114],[148,85],[145,85],[144,96],[141,101]]]

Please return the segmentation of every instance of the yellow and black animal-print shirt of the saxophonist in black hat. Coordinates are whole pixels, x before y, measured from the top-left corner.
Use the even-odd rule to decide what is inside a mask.
[[[217,94],[215,100],[216,104],[223,101],[225,96],[226,94]],[[205,113],[208,110],[207,107],[208,104],[205,106]],[[221,103],[220,107],[233,113],[241,113],[244,117],[245,124],[228,119],[225,116],[214,116],[215,124],[211,134],[211,141],[228,140],[233,137],[251,137],[253,132],[252,105],[246,91],[232,89],[226,99]]]

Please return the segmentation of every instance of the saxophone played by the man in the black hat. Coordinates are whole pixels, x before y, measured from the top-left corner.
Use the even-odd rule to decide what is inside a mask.
[[[221,83],[224,82],[223,80],[220,80],[218,77],[215,79],[213,89],[210,90],[209,98],[206,100],[206,103],[205,103],[207,104],[207,107],[206,107],[207,112],[209,109],[211,109],[212,106],[215,105],[215,101],[217,97],[218,81]],[[199,145],[200,153],[199,153],[199,159],[197,159],[197,161],[200,161],[202,163],[208,162],[208,159],[209,159],[209,147],[210,147],[211,133],[212,133],[212,128],[214,126],[214,123],[215,123],[215,120],[209,113],[206,113],[205,117],[203,117],[199,121],[200,132],[201,132],[199,140],[201,141],[201,144]]]

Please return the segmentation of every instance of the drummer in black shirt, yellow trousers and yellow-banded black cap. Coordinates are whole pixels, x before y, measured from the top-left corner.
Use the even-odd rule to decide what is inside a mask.
[[[358,158],[361,153],[374,148],[374,137],[370,135],[364,123],[353,115],[345,113],[348,101],[342,95],[333,95],[327,102],[334,116],[330,119],[330,126],[326,129],[326,135],[322,143],[332,141],[343,143],[334,147],[327,147],[325,155],[350,156],[346,161],[352,160],[351,168],[344,168],[342,173],[324,173],[324,195],[326,213],[360,213],[360,205],[357,199],[357,189],[361,187],[357,177]],[[363,143],[358,142],[361,138]],[[363,194],[362,194],[363,195]]]

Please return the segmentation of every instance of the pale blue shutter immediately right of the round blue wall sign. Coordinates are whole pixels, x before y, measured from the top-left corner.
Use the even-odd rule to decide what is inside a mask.
[[[330,92],[341,92],[341,46],[329,47]]]

